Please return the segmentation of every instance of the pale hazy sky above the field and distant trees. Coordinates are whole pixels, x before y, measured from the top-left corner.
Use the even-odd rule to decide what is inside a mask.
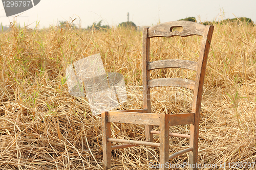
[[[19,0],[6,0],[19,1]],[[33,28],[40,21],[40,28],[56,26],[58,21],[75,19],[82,28],[102,20],[101,25],[117,26],[130,21],[137,26],[152,26],[160,22],[196,17],[201,21],[248,17],[256,22],[256,0],[41,0],[33,8],[16,17],[17,22]],[[8,26],[14,15],[6,17],[3,3],[0,3],[0,22]]]

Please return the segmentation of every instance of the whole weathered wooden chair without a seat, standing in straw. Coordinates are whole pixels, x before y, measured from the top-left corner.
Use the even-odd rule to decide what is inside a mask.
[[[183,27],[183,31],[173,31],[174,28]],[[103,138],[103,169],[111,168],[111,150],[135,145],[148,145],[160,147],[160,165],[165,165],[170,159],[189,152],[190,169],[195,166],[198,159],[198,134],[200,109],[203,92],[203,83],[210,41],[214,26],[204,26],[200,23],[190,21],[173,21],[161,23],[151,28],[143,29],[143,109],[104,111],[102,117]],[[188,60],[159,60],[150,62],[150,39],[154,37],[174,36],[203,36],[198,62]],[[161,78],[150,80],[150,70],[159,68],[185,68],[197,71],[196,80]],[[154,114],[151,113],[150,88],[159,86],[185,87],[194,90],[194,99],[191,113],[182,114]],[[139,124],[145,125],[146,141],[124,140],[111,138],[111,123]],[[190,135],[169,133],[170,126],[190,124]],[[160,126],[160,131],[153,131],[152,126]],[[159,134],[160,143],[153,142],[153,134]],[[189,148],[169,156],[169,136],[189,138]],[[127,143],[111,146],[112,142]],[[160,166],[160,169],[168,169]]]

